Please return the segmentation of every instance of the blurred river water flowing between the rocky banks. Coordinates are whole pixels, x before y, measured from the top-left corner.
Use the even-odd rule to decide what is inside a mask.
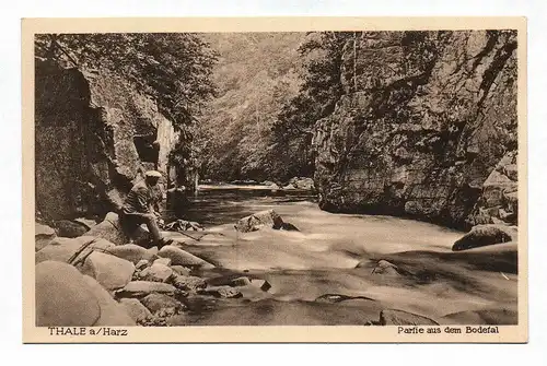
[[[299,232],[235,232],[238,219],[269,209]],[[268,281],[271,288],[243,299],[197,302],[176,324],[363,324],[377,320],[383,308],[435,319],[493,309],[509,311],[502,321],[514,321],[516,273],[480,267],[511,263],[489,253],[479,253],[479,264],[475,257],[474,264],[453,257],[451,247],[464,234],[457,231],[391,216],[328,213],[311,192],[264,187],[201,187],[183,217],[212,233],[185,248],[218,267],[205,273],[211,283],[246,275]],[[373,274],[380,259],[411,275]],[[328,294],[347,299],[329,300]]]

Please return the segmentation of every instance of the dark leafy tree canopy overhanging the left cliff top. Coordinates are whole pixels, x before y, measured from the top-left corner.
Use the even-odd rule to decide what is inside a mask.
[[[217,54],[195,34],[101,33],[36,35],[37,57],[77,68],[121,73],[153,97],[175,129],[194,123],[214,95]]]

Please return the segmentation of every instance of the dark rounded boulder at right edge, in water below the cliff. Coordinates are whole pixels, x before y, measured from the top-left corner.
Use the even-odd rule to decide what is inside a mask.
[[[453,251],[484,247],[488,245],[516,240],[516,227],[505,225],[476,225],[469,233],[456,240],[452,246]]]

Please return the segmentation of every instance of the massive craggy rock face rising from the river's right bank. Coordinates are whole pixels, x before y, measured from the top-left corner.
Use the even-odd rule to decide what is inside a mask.
[[[340,78],[313,141],[322,209],[455,227],[515,212],[515,32],[359,33]]]

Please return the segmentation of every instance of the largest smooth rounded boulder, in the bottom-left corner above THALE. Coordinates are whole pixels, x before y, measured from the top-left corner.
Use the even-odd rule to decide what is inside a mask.
[[[101,317],[94,288],[72,265],[58,261],[36,264],[37,327],[91,327]]]

